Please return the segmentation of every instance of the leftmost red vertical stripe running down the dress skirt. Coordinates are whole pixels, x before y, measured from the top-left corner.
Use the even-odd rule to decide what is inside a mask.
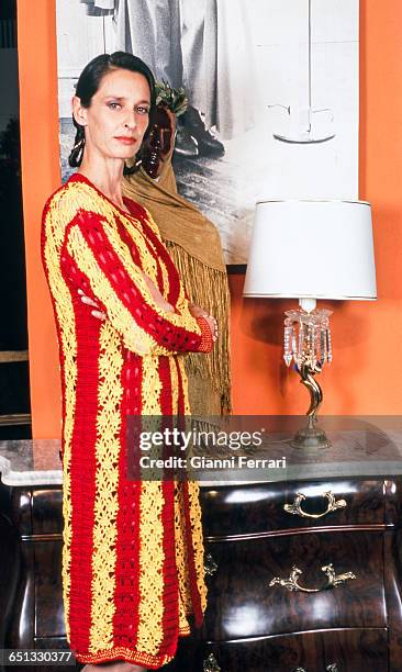
[[[68,283],[67,256],[62,265]],[[77,278],[79,271],[77,269]],[[69,595],[70,647],[88,651],[91,627],[91,581],[93,551],[93,520],[96,497],[96,453],[98,414],[98,360],[100,320],[91,315],[77,294],[72,295],[76,321],[77,384],[74,430],[71,440],[71,565]]]

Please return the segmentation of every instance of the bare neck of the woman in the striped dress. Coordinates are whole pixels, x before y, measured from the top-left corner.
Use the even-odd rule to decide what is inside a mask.
[[[119,208],[126,210],[122,195],[123,168],[124,161],[121,159],[91,161],[83,157],[78,172],[87,177],[99,191],[104,193]]]

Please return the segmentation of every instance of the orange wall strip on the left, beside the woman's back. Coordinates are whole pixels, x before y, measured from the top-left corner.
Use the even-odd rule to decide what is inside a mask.
[[[41,264],[41,215],[60,183],[56,13],[53,0],[18,0],[22,188],[33,436],[60,433],[60,385],[52,305]]]

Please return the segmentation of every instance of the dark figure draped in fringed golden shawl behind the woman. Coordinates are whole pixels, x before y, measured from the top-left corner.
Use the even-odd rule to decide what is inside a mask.
[[[160,87],[159,87],[160,88]],[[220,235],[192,203],[177,192],[171,157],[176,115],[187,99],[163,87],[154,125],[143,144],[141,169],[123,179],[123,193],[152,213],[191,301],[213,311],[220,337],[209,355],[186,357],[192,414],[213,416],[232,410],[230,369],[230,292]]]

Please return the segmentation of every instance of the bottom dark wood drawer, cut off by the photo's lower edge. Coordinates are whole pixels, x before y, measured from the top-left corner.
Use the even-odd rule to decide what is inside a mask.
[[[386,629],[304,632],[206,646],[193,672],[388,672]]]

